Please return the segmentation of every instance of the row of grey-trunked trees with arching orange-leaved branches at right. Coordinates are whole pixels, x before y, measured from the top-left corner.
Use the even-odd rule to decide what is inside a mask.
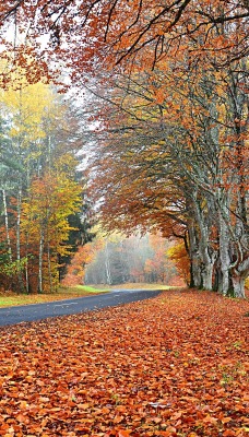
[[[105,83],[92,189],[107,228],[179,238],[191,286],[245,297],[247,64],[206,71],[201,59],[194,71],[177,56]]]

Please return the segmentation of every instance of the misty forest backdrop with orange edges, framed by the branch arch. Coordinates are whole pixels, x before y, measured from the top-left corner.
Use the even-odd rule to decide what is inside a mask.
[[[177,258],[177,259],[176,259]],[[161,283],[185,285],[189,281],[186,252],[159,234],[97,236],[74,255],[64,285]]]

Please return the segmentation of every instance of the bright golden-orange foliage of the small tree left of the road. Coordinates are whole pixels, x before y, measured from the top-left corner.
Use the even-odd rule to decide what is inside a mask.
[[[82,187],[64,173],[33,180],[23,202],[22,232],[26,238],[38,245],[43,233],[51,252],[69,253],[70,247],[64,244],[71,229],[68,216],[80,211],[81,192]]]

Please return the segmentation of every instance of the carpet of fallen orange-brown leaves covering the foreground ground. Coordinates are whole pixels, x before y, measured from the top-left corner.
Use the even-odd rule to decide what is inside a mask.
[[[249,436],[249,302],[170,291],[0,329],[0,436]]]

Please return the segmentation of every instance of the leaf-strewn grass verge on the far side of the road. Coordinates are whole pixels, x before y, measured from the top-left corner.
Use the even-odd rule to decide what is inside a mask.
[[[46,302],[63,300],[73,297],[84,297],[92,294],[107,293],[108,290],[99,290],[97,287],[87,285],[76,286],[61,286],[56,293],[43,293],[43,294],[15,294],[12,292],[5,292],[0,294],[0,307],[11,307],[19,305],[29,304],[43,304]]]

